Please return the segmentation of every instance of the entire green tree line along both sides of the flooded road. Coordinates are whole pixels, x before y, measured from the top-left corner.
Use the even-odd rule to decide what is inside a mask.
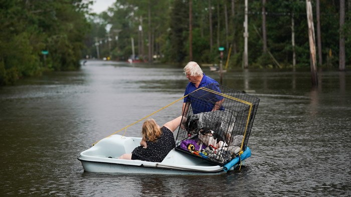
[[[91,13],[92,3],[2,0],[0,85],[77,70],[86,57],[176,64],[218,64],[228,57],[228,69],[243,68],[244,35],[249,68],[310,66],[304,0],[249,0],[247,12],[240,0],[118,0],[99,15]],[[351,64],[351,0],[311,3],[317,66],[345,70]]]

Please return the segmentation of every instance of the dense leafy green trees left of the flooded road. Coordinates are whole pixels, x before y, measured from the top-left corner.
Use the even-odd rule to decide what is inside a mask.
[[[0,1],[0,85],[44,71],[77,70],[90,29],[89,4],[92,1]]]

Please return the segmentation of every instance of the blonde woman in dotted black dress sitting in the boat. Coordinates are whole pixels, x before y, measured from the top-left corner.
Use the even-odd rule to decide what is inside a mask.
[[[175,147],[173,131],[177,129],[181,121],[182,116],[179,116],[159,127],[154,119],[145,120],[141,129],[140,146],[136,147],[132,153],[125,153],[119,158],[161,162]]]

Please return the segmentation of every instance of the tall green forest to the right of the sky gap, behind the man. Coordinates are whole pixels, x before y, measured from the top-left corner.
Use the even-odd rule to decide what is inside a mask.
[[[343,46],[351,44],[351,1],[311,3],[318,67],[338,68],[340,49],[350,65],[351,48],[339,44],[340,38]],[[250,68],[309,68],[306,1],[250,0],[247,15]],[[95,31],[86,54],[122,61],[218,63],[224,47],[223,59],[231,51],[229,68],[241,68],[244,18],[240,0],[116,1],[90,20]]]

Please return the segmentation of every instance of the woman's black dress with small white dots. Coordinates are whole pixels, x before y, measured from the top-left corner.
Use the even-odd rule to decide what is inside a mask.
[[[138,146],[132,151],[132,154],[143,161],[161,162],[168,152],[175,147],[173,133],[164,126],[162,126],[161,131],[161,135],[155,142],[146,141],[146,148]]]

